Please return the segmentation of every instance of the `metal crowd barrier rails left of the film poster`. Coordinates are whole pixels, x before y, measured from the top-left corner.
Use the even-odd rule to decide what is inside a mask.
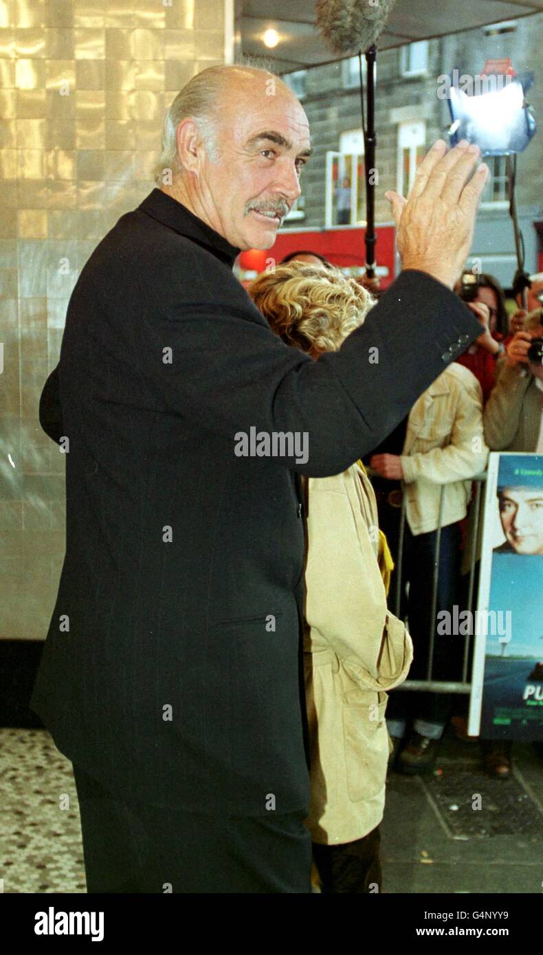
[[[368,476],[371,478],[373,476],[377,477],[376,472],[373,472],[368,468]],[[481,512],[483,507],[483,495],[481,489],[483,484],[487,480],[487,475],[480,474],[471,478],[472,482],[475,484],[475,491],[472,496],[472,499],[469,504],[469,512],[471,514],[472,524],[470,527],[470,553],[469,553],[469,578],[467,586],[467,602],[465,609],[473,612],[474,600],[476,601],[477,595],[473,593],[474,590],[474,580],[475,580],[475,565],[477,562],[477,542],[479,538],[479,527],[481,523]],[[398,555],[393,555],[395,561],[395,571],[396,571],[396,592],[394,598],[394,606],[391,607],[392,612],[395,616],[400,616],[400,609],[402,604],[402,565],[403,565],[403,536],[405,529],[405,504],[406,504],[406,495],[404,493],[404,485],[402,482],[402,512],[400,518],[400,538],[398,545]],[[436,693],[469,693],[471,690],[471,684],[467,680],[467,666],[469,660],[469,641],[472,637],[472,634],[467,633],[464,637],[464,658],[462,665],[462,680],[461,682],[454,681],[439,681],[432,680],[432,665],[434,658],[434,643],[436,636],[436,610],[437,610],[437,591],[438,591],[438,573],[439,573],[439,557],[441,549],[441,532],[442,532],[442,518],[443,518],[443,502],[444,502],[444,492],[445,484],[442,485],[441,495],[440,495],[440,509],[439,509],[439,518],[438,518],[438,527],[437,527],[437,537],[436,537],[436,554],[435,554],[435,564],[434,572],[432,577],[432,590],[431,590],[431,624],[430,624],[430,633],[429,633],[429,652],[428,652],[428,663],[426,667],[426,679],[425,680],[405,680],[402,683],[402,690],[431,690]]]

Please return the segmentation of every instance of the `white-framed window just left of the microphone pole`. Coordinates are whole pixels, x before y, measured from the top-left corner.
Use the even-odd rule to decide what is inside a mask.
[[[339,150],[326,154],[326,218],[333,225],[363,222],[364,140],[361,129],[339,137]]]

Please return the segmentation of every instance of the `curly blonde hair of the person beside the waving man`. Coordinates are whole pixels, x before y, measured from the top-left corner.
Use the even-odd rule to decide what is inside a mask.
[[[334,265],[292,260],[248,287],[272,331],[302,351],[337,351],[375,305],[370,293]]]

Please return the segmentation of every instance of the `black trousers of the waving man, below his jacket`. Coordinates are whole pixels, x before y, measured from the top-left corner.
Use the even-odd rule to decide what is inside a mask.
[[[74,765],[90,893],[311,892],[303,815],[161,809],[103,789]]]

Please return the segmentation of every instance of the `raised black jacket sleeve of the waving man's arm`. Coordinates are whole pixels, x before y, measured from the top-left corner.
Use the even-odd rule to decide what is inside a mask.
[[[315,362],[273,334],[226,268],[204,268],[196,252],[187,267],[189,286],[176,281],[178,262],[177,273],[164,269],[141,287],[141,371],[164,410],[223,435],[232,454],[250,428],[300,435],[308,459],[277,463],[309,477],[336,475],[372,451],[481,331],[457,296],[408,270],[339,351]]]

